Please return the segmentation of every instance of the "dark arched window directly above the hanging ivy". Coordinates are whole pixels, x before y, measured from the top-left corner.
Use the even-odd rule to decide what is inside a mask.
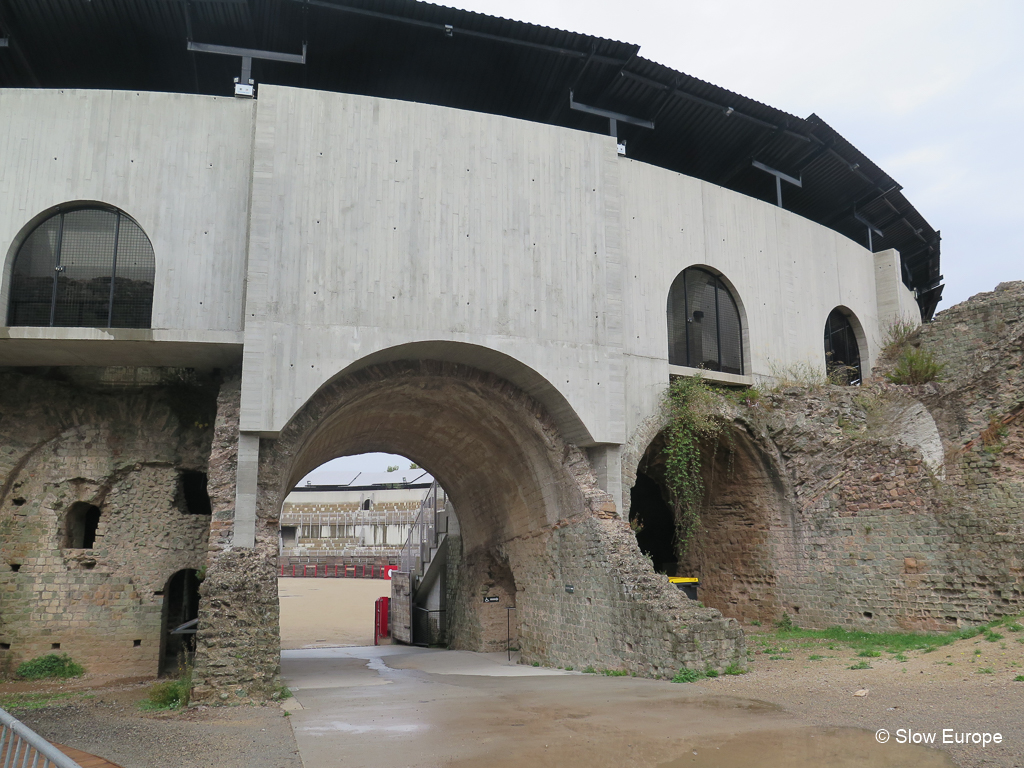
[[[743,373],[739,309],[725,284],[707,269],[691,266],[672,283],[669,365]]]

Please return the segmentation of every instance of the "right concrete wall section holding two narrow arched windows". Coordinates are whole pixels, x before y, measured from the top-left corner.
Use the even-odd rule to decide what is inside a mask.
[[[777,206],[662,168],[622,159],[618,173],[631,434],[656,412],[667,386],[669,288],[689,266],[710,267],[732,289],[744,373],[755,380],[823,374],[825,319],[837,306],[866,330],[860,355],[870,370],[879,310],[876,262],[865,248]]]

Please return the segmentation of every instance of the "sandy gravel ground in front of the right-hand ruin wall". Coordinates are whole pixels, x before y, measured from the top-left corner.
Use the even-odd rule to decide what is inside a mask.
[[[961,640],[930,652],[859,657],[848,646],[749,634],[751,672],[698,685],[709,693],[778,705],[822,726],[936,733],[998,732],[1001,744],[947,744],[962,768],[1024,768],[1024,632]],[[812,659],[811,656],[821,656]],[[866,662],[871,669],[851,670]],[[854,695],[866,690],[866,695]]]

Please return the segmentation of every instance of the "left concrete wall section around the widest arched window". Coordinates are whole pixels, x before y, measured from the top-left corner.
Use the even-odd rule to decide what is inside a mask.
[[[55,206],[94,201],[125,211],[153,243],[154,329],[241,331],[254,109],[178,93],[0,89],[4,322],[19,236]]]

